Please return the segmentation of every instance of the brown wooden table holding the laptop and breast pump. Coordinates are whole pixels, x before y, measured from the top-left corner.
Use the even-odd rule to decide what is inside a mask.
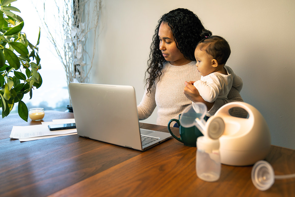
[[[45,111],[43,121],[62,118],[73,113]],[[252,166],[222,165],[218,181],[202,181],[196,175],[196,147],[176,139],[140,152],[77,135],[9,138],[12,126],[40,122],[25,122],[17,114],[0,120],[0,196],[295,196],[295,179],[256,189]],[[140,127],[168,132],[165,126]],[[179,136],[178,128],[171,130]],[[295,173],[294,150],[271,146],[266,160],[276,175]]]

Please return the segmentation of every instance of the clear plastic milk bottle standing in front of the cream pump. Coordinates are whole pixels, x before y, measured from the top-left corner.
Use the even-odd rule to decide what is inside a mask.
[[[204,181],[217,181],[221,173],[219,140],[205,136],[197,138],[196,172]]]

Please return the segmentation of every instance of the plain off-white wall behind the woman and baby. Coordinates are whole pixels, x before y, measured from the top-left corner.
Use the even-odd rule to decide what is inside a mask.
[[[103,1],[91,83],[132,85],[137,103],[158,19],[183,7],[230,44],[228,66],[244,82],[241,96],[265,117],[272,144],[295,149],[295,1]],[[155,123],[156,114],[143,122]]]

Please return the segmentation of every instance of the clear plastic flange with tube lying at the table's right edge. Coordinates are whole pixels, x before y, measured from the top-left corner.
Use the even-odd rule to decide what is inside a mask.
[[[261,191],[265,191],[271,188],[271,186],[275,182],[275,179],[288,178],[295,178],[295,174],[275,175],[273,167],[264,160],[256,162],[251,171],[251,179],[253,185]]]

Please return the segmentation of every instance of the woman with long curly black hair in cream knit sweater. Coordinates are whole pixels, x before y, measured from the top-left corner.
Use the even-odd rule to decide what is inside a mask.
[[[195,66],[194,51],[203,29],[196,14],[183,8],[164,14],[158,21],[145,73],[146,92],[137,106],[140,120],[148,118],[156,106],[156,124],[167,126],[172,118],[178,119],[191,101],[204,102],[209,110],[208,116],[214,115],[228,102],[243,101],[237,89],[232,88],[228,100],[217,99],[208,103],[192,85],[201,78]],[[233,115],[246,116],[243,110],[236,110]]]

